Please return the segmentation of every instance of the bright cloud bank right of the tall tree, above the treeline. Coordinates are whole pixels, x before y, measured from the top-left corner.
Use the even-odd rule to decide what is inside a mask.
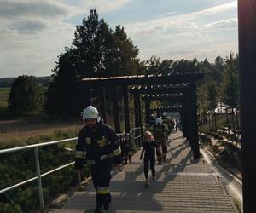
[[[214,60],[216,55],[237,51],[235,11],[233,1],[188,14],[165,14],[155,20],[127,24],[125,31],[141,49],[139,56],[143,60],[150,55]]]

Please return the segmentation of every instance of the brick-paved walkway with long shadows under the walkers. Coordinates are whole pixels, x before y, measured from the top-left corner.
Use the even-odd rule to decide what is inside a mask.
[[[133,163],[113,176],[113,202],[106,213],[238,212],[211,166],[204,159],[192,159],[190,147],[180,132],[172,134],[168,163],[156,165],[156,181],[150,181],[149,187],[144,187],[143,161],[138,159],[139,155],[140,152],[136,153]],[[63,209],[50,212],[90,213],[95,206],[96,193],[90,184],[86,191],[74,193]]]

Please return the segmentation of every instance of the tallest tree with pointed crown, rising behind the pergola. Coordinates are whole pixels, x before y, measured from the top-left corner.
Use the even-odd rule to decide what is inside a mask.
[[[112,46],[112,30],[104,20],[99,20],[96,9],[91,9],[87,20],[84,18],[74,32],[73,49],[78,57],[79,75],[90,78],[103,73]]]

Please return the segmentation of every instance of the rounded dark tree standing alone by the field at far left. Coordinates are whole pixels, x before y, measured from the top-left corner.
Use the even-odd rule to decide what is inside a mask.
[[[15,114],[38,110],[43,101],[40,87],[32,76],[19,76],[12,84],[8,108]]]

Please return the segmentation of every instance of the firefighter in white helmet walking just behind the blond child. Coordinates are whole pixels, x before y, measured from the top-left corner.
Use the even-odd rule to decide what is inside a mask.
[[[157,149],[157,160],[158,164],[166,163],[167,156],[167,135],[169,133],[168,128],[163,123],[162,118],[155,119],[154,125],[154,140],[158,143],[159,148]],[[160,150],[161,147],[161,150]]]

